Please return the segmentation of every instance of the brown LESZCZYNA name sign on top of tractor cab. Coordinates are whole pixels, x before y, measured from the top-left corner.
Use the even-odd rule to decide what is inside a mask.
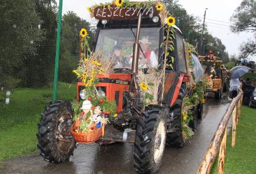
[[[142,10],[143,16],[148,17],[150,14],[154,16],[158,15],[155,6],[151,6],[150,8],[140,8],[137,9],[134,7],[129,8],[119,8],[117,6],[110,7],[97,7],[94,10],[94,17],[99,20],[108,20],[108,19],[136,19],[138,16],[138,12]]]

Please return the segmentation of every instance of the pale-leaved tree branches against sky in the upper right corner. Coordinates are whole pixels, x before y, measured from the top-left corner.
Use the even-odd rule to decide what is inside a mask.
[[[243,0],[235,10],[231,20],[233,32],[256,32],[256,1]],[[256,38],[254,39],[256,40]],[[239,50],[240,58],[256,55],[256,41],[248,39],[247,42],[241,44]]]

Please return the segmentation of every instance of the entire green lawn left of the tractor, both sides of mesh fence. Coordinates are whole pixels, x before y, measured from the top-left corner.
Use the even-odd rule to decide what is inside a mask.
[[[76,85],[59,83],[58,99],[76,99]],[[19,88],[11,92],[10,104],[0,106],[0,167],[2,160],[37,153],[40,113],[52,99],[52,88]]]

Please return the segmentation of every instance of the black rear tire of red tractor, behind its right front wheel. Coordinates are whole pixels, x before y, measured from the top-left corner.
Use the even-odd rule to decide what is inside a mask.
[[[179,96],[170,109],[170,116],[174,118],[171,126],[175,132],[167,133],[166,144],[171,147],[183,147],[184,139],[182,136],[182,100],[186,96],[186,84],[180,87]]]

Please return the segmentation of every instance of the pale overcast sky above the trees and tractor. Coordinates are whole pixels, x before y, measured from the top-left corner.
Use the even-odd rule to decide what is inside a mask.
[[[90,21],[90,23],[95,24],[97,21],[90,19],[90,15],[86,8],[94,5],[95,3],[111,1],[112,0],[64,0],[63,13],[73,11],[82,19],[86,19]],[[241,0],[179,0],[179,3],[187,10],[189,14],[201,17],[201,20],[204,16],[205,8],[208,8],[205,20],[207,23],[207,28],[214,37],[218,37],[222,40],[229,55],[237,54],[239,52],[239,45],[243,41],[247,41],[248,38],[253,37],[253,34],[248,32],[233,34],[229,29],[230,17],[234,13],[237,6],[240,5]],[[254,60],[256,60],[256,58]]]

